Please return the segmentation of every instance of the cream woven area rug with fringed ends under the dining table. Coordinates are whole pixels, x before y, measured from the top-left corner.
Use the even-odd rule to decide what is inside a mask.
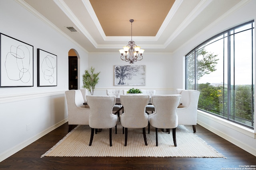
[[[172,132],[164,133],[161,129],[158,131],[158,147],[156,147],[154,127],[150,128],[150,134],[146,129],[148,146],[144,144],[142,129],[128,129],[127,146],[124,147],[124,134],[120,122],[118,122],[117,134],[114,129],[112,128],[112,147],[109,145],[109,129],[102,129],[101,132],[94,134],[92,146],[89,146],[91,128],[88,125],[78,125],[41,158],[44,156],[225,158],[183,125],[176,128],[177,147],[174,147]]]

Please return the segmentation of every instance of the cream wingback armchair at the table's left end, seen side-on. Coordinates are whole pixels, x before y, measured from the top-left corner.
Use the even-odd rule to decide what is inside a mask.
[[[65,92],[68,106],[68,132],[72,125],[89,125],[90,109],[84,106],[84,98],[81,90],[68,90]]]

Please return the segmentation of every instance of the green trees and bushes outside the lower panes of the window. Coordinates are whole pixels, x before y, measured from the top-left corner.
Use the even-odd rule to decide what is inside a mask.
[[[228,89],[223,86],[214,87],[210,83],[198,84],[200,98],[198,108],[220,115],[228,116]],[[236,85],[231,86],[230,94],[230,119],[246,123],[252,121],[252,86]]]

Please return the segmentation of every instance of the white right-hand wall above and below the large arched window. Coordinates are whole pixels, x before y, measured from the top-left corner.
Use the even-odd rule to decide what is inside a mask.
[[[218,20],[218,22],[212,23],[212,25],[209,25],[208,27],[206,27],[200,34],[195,35],[192,39],[189,39],[186,44],[184,44],[182,47],[177,49],[173,54],[173,57],[174,57],[174,61],[177,62],[175,65],[177,66],[177,69],[179,69],[179,72],[183,72],[184,74],[184,70],[185,70],[184,56],[187,53],[189,53],[194,47],[206,41],[213,35],[221,33],[222,31],[229,29],[230,27],[234,27],[246,21],[255,20],[256,19],[255,8],[256,8],[256,1],[252,0],[249,4],[242,7],[241,9],[238,9],[238,10],[236,9],[234,13],[230,12],[229,13],[230,15],[227,18],[222,18],[222,20]],[[254,33],[254,36],[255,36],[255,33]],[[255,51],[254,51],[254,55],[255,55]],[[183,56],[183,60],[180,59],[181,56]],[[183,67],[179,67],[181,65]],[[174,74],[174,80],[178,78],[179,76],[177,74]],[[178,84],[177,85],[174,84],[174,86],[177,87]],[[254,114],[254,117],[255,117],[255,114]],[[256,128],[255,127],[253,131],[252,129],[248,129],[248,128],[236,125],[235,123],[231,123],[229,121],[224,121],[223,119],[220,119],[216,116],[212,116],[210,114],[206,114],[201,111],[198,111],[197,122],[198,124],[209,129],[210,131],[216,133],[220,137],[223,137],[224,139],[230,141],[231,143],[234,143],[238,147],[256,156],[256,139],[255,139]]]

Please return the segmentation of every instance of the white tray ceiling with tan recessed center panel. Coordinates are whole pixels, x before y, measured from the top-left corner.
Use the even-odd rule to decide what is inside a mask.
[[[118,52],[127,45],[131,39],[130,19],[134,19],[132,40],[145,53],[172,53],[248,0],[91,0],[92,4],[90,0],[16,1],[89,53]],[[141,1],[142,5],[136,6]]]

